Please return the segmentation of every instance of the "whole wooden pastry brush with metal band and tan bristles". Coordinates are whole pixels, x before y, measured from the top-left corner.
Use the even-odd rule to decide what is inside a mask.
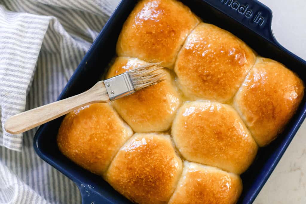
[[[91,89],[79,95],[14,115],[6,120],[4,128],[6,132],[19,134],[82,106],[92,103],[107,103],[133,94],[135,91],[163,81],[162,68],[159,64],[149,63],[107,80],[99,81]]]

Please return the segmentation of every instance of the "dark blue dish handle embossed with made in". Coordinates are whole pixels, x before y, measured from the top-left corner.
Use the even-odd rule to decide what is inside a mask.
[[[247,28],[276,43],[271,22],[272,11],[257,0],[204,0],[227,16],[237,20]]]

